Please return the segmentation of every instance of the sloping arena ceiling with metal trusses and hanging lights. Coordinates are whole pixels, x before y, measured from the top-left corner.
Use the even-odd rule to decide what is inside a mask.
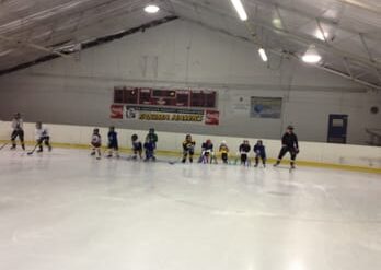
[[[185,20],[255,43],[273,55],[301,58],[315,45],[316,68],[381,89],[379,0],[0,0],[0,74],[49,57],[71,57],[106,36]],[[157,14],[143,8],[154,3]],[[257,51],[253,49],[253,54]]]

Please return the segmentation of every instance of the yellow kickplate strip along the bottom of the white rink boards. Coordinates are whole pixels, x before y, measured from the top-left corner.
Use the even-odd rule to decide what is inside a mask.
[[[1,143],[7,143],[9,141],[0,141]],[[25,142],[27,145],[35,145],[34,142]],[[51,144],[55,148],[62,148],[62,149],[90,149],[90,144],[72,144],[72,143],[53,143]],[[103,146],[104,150],[106,150],[105,146]],[[131,153],[130,149],[122,148],[119,149],[120,153]],[[176,153],[173,151],[157,151],[158,153],[162,155],[168,156],[181,156],[182,153]],[[197,153],[196,153],[197,154]],[[199,153],[198,153],[199,154]],[[268,159],[269,163],[274,163],[275,159]],[[288,163],[289,161],[285,160],[282,161],[282,164]],[[371,174],[381,174],[381,168],[378,167],[362,167],[362,166],[353,166],[353,165],[343,165],[343,164],[332,164],[332,163],[320,163],[320,162],[310,162],[310,161],[297,161],[298,166],[309,166],[309,167],[321,167],[321,168],[333,168],[333,169],[344,169],[344,171],[350,171],[350,172],[360,172],[360,173],[371,173]]]

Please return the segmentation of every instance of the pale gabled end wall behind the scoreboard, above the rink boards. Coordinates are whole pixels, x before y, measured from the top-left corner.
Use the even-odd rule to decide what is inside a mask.
[[[293,125],[304,141],[325,142],[330,114],[349,116],[347,142],[367,144],[381,127],[381,92],[308,64],[269,55],[226,34],[177,20],[91,49],[0,77],[0,119],[148,129],[152,122],[109,119],[113,87],[209,89],[218,92],[219,126],[155,122],[159,131],[277,140]],[[281,97],[280,119],[250,117],[252,96]],[[242,101],[242,102],[241,102]],[[244,109],[239,107],[244,107]]]

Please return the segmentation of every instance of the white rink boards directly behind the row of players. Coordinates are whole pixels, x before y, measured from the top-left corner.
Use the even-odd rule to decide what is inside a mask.
[[[53,143],[71,144],[72,146],[89,145],[93,127],[68,126],[68,125],[47,125]],[[25,140],[34,141],[34,124],[24,124]],[[106,145],[108,128],[100,128],[103,145]],[[140,139],[147,134],[147,130],[118,129],[119,145],[122,149],[130,149],[131,134],[136,133]],[[7,141],[11,133],[11,122],[0,122],[0,140]],[[158,150],[181,155],[184,133],[158,132]],[[193,134],[197,145],[196,151],[200,151],[200,144],[206,139],[212,140],[218,146],[222,140],[228,142],[231,153],[235,154],[243,139],[249,139],[253,146],[257,138],[218,137]],[[266,146],[268,159],[276,159],[280,149],[280,140],[266,140],[261,138]],[[381,169],[381,148],[362,146],[350,144],[330,144],[319,142],[300,142],[300,154],[298,160],[304,163],[333,164],[340,166],[356,166],[365,168]]]

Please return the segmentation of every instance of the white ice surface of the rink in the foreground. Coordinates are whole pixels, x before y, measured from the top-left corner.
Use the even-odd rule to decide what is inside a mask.
[[[381,177],[0,152],[3,270],[380,270]]]

